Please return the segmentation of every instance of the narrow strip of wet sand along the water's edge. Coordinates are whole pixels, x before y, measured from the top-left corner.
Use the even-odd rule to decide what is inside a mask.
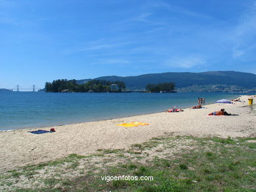
[[[232,96],[232,95],[230,95]],[[237,96],[237,95],[236,95]],[[230,97],[230,100],[231,99],[236,99],[236,98],[240,98],[241,96],[245,96],[245,95],[240,95],[239,97]],[[204,104],[203,106],[207,106],[207,105],[211,105],[211,104],[214,104],[214,103],[206,103]],[[196,105],[196,102],[195,104]],[[177,104],[175,104],[174,106],[179,106]],[[171,106],[169,106],[171,107]],[[192,106],[190,106],[192,107]],[[190,109],[190,107],[188,106],[185,106],[185,107],[182,107],[182,109]],[[168,107],[167,107],[168,108]],[[166,108],[166,110],[167,110]],[[127,118],[127,117],[136,117],[136,116],[140,116],[140,115],[151,115],[151,114],[158,114],[158,113],[162,113],[163,111],[158,111],[158,112],[152,112],[152,113],[142,113],[142,114],[137,114],[137,115],[124,115],[124,116],[121,116],[121,117],[113,117],[113,118],[106,118],[106,119],[98,119],[98,120],[88,120],[88,121],[74,121],[74,122],[70,122],[70,123],[63,123],[63,124],[59,124],[59,125],[42,125],[42,126],[22,126],[22,127],[12,127],[10,129],[5,129],[5,130],[0,130],[0,132],[8,132],[8,131],[12,131],[12,130],[32,130],[32,129],[36,129],[36,128],[49,128],[49,127],[58,127],[58,126],[68,126],[68,125],[77,125],[77,124],[81,124],[81,123],[90,123],[90,122],[98,122],[98,121],[108,121],[108,120],[113,120],[113,119],[122,119],[122,118]],[[1,128],[1,127],[0,127]]]

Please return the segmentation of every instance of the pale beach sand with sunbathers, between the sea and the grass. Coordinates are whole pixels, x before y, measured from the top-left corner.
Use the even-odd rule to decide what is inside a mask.
[[[71,153],[89,155],[96,149],[127,149],[131,144],[145,142],[165,134],[222,138],[256,136],[256,116],[244,102],[211,104],[203,109],[184,109],[179,113],[154,113],[121,119],[54,126],[56,132],[31,134],[29,130],[0,132],[0,172],[17,166],[42,163]],[[256,98],[255,98],[256,99]],[[171,107],[171,106],[169,106]],[[208,116],[208,113],[226,109],[234,116]],[[139,121],[145,126],[123,127],[116,124]],[[45,130],[50,130],[44,128]],[[37,130],[38,128],[33,128]]]

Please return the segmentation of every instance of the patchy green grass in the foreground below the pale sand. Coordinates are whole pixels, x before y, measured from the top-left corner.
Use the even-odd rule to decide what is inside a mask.
[[[58,167],[68,163],[68,170],[77,170],[79,174],[69,178],[51,178],[41,180],[45,187],[33,189],[18,189],[12,191],[256,191],[256,143],[247,142],[256,138],[194,138],[194,137],[161,137],[154,138],[142,144],[135,144],[131,149],[102,149],[94,157],[111,156],[114,161],[123,159],[122,163],[107,165],[103,168],[89,167],[89,171],[79,170],[79,165],[90,157],[69,155],[64,159],[34,166],[26,166],[12,170],[1,176],[1,185],[14,185],[7,181],[24,176],[29,178],[37,174],[41,168]],[[184,149],[173,155],[175,142],[189,141],[192,148]],[[186,142],[187,143],[187,142]],[[144,150],[154,150],[161,144],[161,150],[156,154],[166,154],[164,157],[150,157]],[[162,147],[164,145],[164,147]],[[141,158],[138,157],[140,150]],[[100,154],[104,154],[101,156]],[[127,154],[129,154],[127,156]],[[144,160],[144,161],[142,161]],[[95,170],[99,170],[95,172]],[[91,170],[91,171],[90,171]],[[56,173],[57,174],[57,173]],[[58,173],[59,174],[59,173]],[[120,181],[106,182],[101,176],[153,176],[153,181]],[[0,186],[1,186],[0,185]]]

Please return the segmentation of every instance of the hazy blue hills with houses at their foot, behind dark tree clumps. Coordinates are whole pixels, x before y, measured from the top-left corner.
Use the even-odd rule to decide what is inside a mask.
[[[123,81],[127,90],[145,90],[148,84],[173,82],[178,92],[255,92],[256,75],[239,71],[206,71],[200,73],[166,72],[137,76],[103,76],[76,80],[78,85],[92,80]]]

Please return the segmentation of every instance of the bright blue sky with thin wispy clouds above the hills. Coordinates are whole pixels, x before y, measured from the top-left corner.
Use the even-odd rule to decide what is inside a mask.
[[[0,0],[0,88],[255,61],[256,1]]]

